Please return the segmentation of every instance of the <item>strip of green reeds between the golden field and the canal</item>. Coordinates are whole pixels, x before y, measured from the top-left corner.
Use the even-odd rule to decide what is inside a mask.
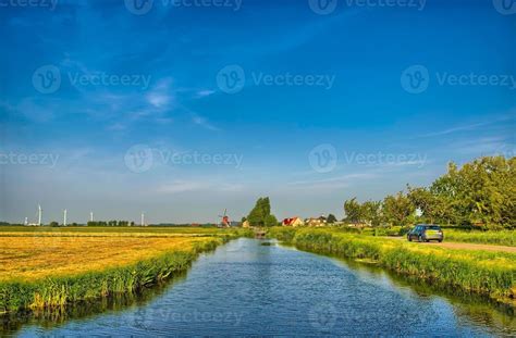
[[[119,292],[137,292],[186,271],[201,252],[237,236],[210,238],[185,251],[168,252],[135,264],[107,267],[76,276],[48,277],[35,281],[0,283],[0,313],[19,310],[60,308],[67,303],[108,297]]]

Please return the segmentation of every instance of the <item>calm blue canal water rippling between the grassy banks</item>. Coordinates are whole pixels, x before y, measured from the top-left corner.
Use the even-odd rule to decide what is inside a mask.
[[[201,255],[149,300],[63,323],[32,320],[30,336],[514,336],[514,314],[435,296],[359,264],[238,239]],[[81,311],[79,311],[81,312]],[[5,331],[4,331],[5,333]]]

